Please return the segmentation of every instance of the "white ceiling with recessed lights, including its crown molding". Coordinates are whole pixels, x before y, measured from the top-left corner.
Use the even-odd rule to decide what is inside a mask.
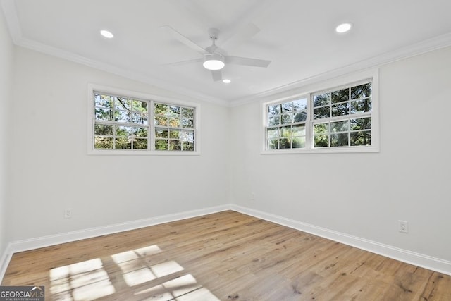
[[[236,104],[315,78],[375,66],[451,44],[450,0],[0,0],[13,41],[192,97]],[[335,26],[350,21],[350,32]],[[260,31],[240,39],[256,25]],[[229,55],[271,60],[226,65],[214,82],[201,58],[168,30],[202,47],[221,30]],[[105,39],[99,30],[113,32]]]

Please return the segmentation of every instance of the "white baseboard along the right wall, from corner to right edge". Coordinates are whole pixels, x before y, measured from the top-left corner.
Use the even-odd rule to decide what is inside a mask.
[[[451,276],[451,262],[445,259],[435,258],[409,250],[403,250],[398,247],[384,245],[379,242],[366,240],[364,238],[348,235],[346,233],[332,231],[326,228],[310,225],[309,223],[302,223],[301,221],[295,221],[293,219],[285,219],[282,216],[268,214],[263,211],[241,207],[235,204],[230,205],[230,209],[242,214],[248,214],[250,216],[257,217],[259,219],[278,223],[279,225],[288,226],[299,231],[321,236],[322,238],[327,238],[336,242],[342,242],[345,245],[350,245],[352,247],[357,247],[365,251],[380,254],[385,257],[399,260],[400,262],[406,262],[407,264],[413,264],[414,266],[421,266],[422,268]]]

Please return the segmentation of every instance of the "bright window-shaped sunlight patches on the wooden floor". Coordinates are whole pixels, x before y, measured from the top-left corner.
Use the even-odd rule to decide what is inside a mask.
[[[51,298],[72,301],[109,299],[115,293],[123,296],[130,292],[130,296],[139,297],[140,300],[219,300],[197,283],[191,274],[180,276],[179,272],[184,271],[184,268],[178,262],[161,256],[152,257],[159,253],[162,251],[157,245],[150,245],[111,257],[51,269]],[[168,278],[171,275],[175,278]],[[146,288],[146,285],[150,288]]]

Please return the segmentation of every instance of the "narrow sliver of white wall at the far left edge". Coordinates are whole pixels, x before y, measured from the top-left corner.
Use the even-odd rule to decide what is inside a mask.
[[[13,49],[13,42],[6,28],[3,11],[0,8],[0,254],[3,254],[7,245],[8,142],[11,130],[9,107],[13,98]]]

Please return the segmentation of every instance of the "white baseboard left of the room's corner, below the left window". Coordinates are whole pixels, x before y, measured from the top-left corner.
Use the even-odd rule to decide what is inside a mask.
[[[156,216],[149,219],[140,219],[137,221],[128,221],[125,223],[116,223],[108,226],[101,226],[95,228],[88,228],[79,231],[72,231],[68,233],[59,233],[55,235],[46,235],[39,238],[30,238],[26,240],[16,240],[10,242],[1,257],[0,262],[0,283],[4,278],[6,268],[11,260],[11,257],[16,252],[23,252],[27,250],[37,249],[39,247],[49,247],[51,245],[58,245],[65,242],[73,242],[75,240],[82,240],[85,238],[94,238],[101,235],[108,235],[123,231],[135,230],[148,226],[158,225],[160,223],[168,223],[171,221],[180,221],[181,219],[190,219],[196,216],[206,214],[213,214],[220,211],[230,209],[230,205],[221,205],[216,207],[209,207],[204,209],[197,209],[175,214],[167,214],[163,216]]]

